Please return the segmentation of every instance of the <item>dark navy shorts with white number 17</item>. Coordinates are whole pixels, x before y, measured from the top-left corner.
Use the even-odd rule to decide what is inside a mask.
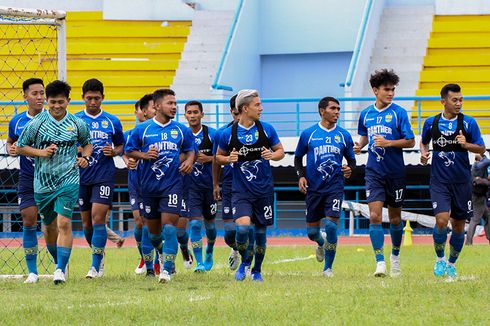
[[[392,179],[366,175],[366,200],[382,201],[390,207],[402,207],[405,198],[405,178]]]

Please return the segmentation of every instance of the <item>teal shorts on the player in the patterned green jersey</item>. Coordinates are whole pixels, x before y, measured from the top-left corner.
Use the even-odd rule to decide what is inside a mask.
[[[79,185],[66,185],[53,192],[34,194],[39,215],[45,225],[51,224],[58,214],[71,219],[79,188]]]

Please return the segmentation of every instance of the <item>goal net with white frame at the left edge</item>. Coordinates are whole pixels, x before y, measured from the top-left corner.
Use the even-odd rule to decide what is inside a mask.
[[[36,77],[47,84],[60,76],[61,24],[56,18],[62,15],[0,7],[0,275],[27,272],[16,192],[19,159],[6,151],[8,125],[15,114],[27,110],[23,103],[24,80]],[[54,266],[42,239],[39,220],[38,237],[38,271],[52,274]]]

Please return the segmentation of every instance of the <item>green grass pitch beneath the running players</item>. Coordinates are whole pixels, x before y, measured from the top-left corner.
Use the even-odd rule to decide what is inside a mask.
[[[385,252],[388,253],[388,247]],[[0,281],[1,325],[489,324],[490,246],[464,247],[459,279],[432,275],[431,246],[402,248],[399,278],[375,278],[368,246],[339,247],[326,279],[314,246],[269,247],[264,283],[236,282],[227,248],[206,274],[177,257],[171,283],[134,274],[135,248],[108,249],[106,275],[84,278],[89,249],[75,248],[67,283]],[[387,255],[387,256],[388,256]]]

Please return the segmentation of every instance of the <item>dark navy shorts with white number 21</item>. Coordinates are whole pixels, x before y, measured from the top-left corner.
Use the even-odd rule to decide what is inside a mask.
[[[318,222],[324,217],[340,217],[344,192],[306,193],[306,222]]]

